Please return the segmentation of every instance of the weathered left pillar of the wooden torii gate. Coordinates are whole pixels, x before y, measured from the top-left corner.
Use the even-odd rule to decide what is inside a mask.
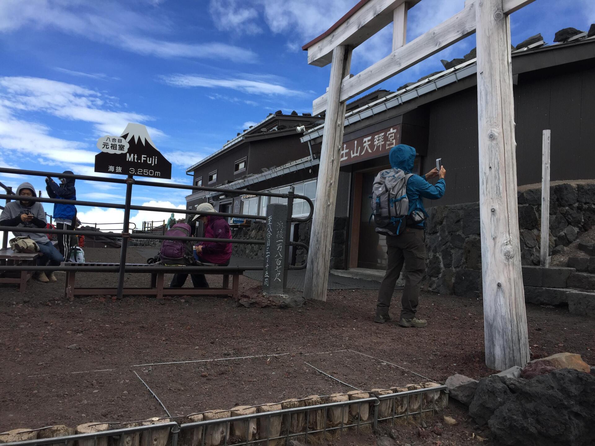
[[[328,270],[333,241],[334,208],[339,183],[340,150],[343,145],[345,102],[339,102],[341,81],[349,74],[352,49],[338,45],[333,50],[331,76],[328,83],[327,112],[318,167],[318,185],[310,250],[304,283],[306,299],[327,300]]]

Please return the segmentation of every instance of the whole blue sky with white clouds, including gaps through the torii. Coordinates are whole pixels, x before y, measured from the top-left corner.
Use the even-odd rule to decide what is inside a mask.
[[[128,122],[149,128],[173,163],[185,168],[220,149],[268,113],[308,112],[330,67],[311,67],[300,47],[356,0],[0,0],[0,165],[92,174],[98,137]],[[446,20],[464,0],[422,0],[409,11],[408,41]],[[512,43],[536,33],[588,30],[593,0],[536,0],[512,14]],[[390,26],[353,52],[358,73],[390,52]],[[475,36],[381,84],[396,89],[462,57]],[[40,189],[40,177],[26,178]],[[21,178],[0,174],[11,185]],[[123,201],[120,186],[79,182],[79,199]],[[184,208],[184,190],[134,188],[139,205]],[[52,205],[45,205],[51,213]],[[79,209],[87,222],[123,213]],[[132,221],[163,218],[132,213]]]

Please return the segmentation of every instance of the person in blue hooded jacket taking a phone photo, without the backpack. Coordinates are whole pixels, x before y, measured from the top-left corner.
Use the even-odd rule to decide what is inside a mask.
[[[414,167],[415,155],[413,147],[399,144],[390,150],[390,165],[394,169],[402,169],[409,174]],[[419,287],[425,275],[425,220],[417,221],[418,219],[412,215],[426,215],[422,198],[437,200],[443,196],[446,189],[445,176],[446,170],[440,167],[440,171],[434,168],[421,177],[412,175],[407,181],[406,194],[409,200],[407,227],[399,235],[386,237],[388,265],[378,291],[374,322],[390,321],[390,300],[393,297],[394,285],[405,264],[405,288],[401,297],[402,310],[399,325],[415,328],[424,328],[427,325],[426,321],[415,317],[419,302]],[[435,177],[440,177],[435,186],[428,183],[428,179]]]

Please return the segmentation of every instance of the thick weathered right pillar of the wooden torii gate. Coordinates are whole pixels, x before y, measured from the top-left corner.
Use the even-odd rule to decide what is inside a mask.
[[[486,365],[529,360],[522,284],[510,19],[502,0],[475,2],[481,266]]]

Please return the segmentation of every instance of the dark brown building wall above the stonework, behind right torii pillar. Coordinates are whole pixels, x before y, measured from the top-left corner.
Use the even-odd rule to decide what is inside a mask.
[[[577,62],[519,74],[514,87],[519,186],[541,183],[541,133],[552,130],[551,181],[595,178],[595,64]],[[477,88],[430,107],[428,156],[443,158],[446,194],[427,207],[479,201]]]

